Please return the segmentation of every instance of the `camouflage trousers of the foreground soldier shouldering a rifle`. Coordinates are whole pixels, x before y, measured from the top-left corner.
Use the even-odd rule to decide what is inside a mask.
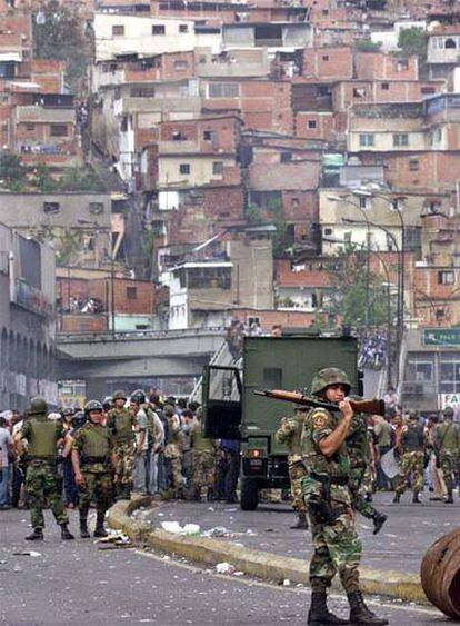
[[[332,503],[332,509],[338,505]],[[342,511],[333,524],[317,524],[310,516],[313,556],[310,562],[310,584],[312,590],[323,590],[330,587],[332,578],[338,573],[344,590],[350,594],[358,592],[359,562],[362,546],[354,530],[350,511]]]

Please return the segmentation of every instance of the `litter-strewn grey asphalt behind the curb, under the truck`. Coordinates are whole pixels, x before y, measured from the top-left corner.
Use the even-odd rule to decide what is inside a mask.
[[[363,565],[374,569],[418,573],[427,548],[440,536],[460,525],[460,505],[432,503],[428,493],[422,505],[411,504],[411,494],[402,496],[400,505],[391,504],[393,494],[382,493],[374,497],[374,506],[388,515],[379,535],[372,534],[373,526],[357,515],[357,529],[363,545]],[[232,533],[223,541],[238,541],[247,547],[309,559],[311,556],[310,534],[291,530],[296,516],[289,504],[261,504],[256,511],[241,510],[239,505],[223,503],[163,503],[148,516],[152,527],[162,521],[199,524],[202,530],[223,526]],[[248,533],[249,531],[249,533]]]

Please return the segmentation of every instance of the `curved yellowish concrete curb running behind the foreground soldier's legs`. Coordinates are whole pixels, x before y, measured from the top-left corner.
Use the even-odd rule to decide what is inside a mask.
[[[228,562],[237,569],[257,578],[282,583],[288,578],[291,584],[309,586],[308,563],[299,558],[282,557],[271,553],[242,549],[220,541],[202,537],[183,537],[157,528],[130,517],[132,513],[152,503],[150,497],[139,497],[134,500],[119,500],[109,510],[108,521],[112,528],[122,530],[132,540],[166,554],[186,557],[192,562],[216,565]],[[401,574],[398,572],[379,572],[367,567],[360,568],[360,580],[366,594],[399,598],[408,602],[429,604],[423,593],[420,576],[417,574]],[[336,576],[332,587],[342,590]]]

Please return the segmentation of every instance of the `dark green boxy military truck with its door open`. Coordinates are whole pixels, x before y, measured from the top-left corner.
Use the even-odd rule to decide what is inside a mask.
[[[361,393],[357,339],[292,334],[246,337],[242,368],[207,366],[203,371],[203,433],[206,437],[241,440],[241,508],[253,510],[259,491],[289,488],[287,449],[274,433],[293,405],[254,395],[257,389],[309,393],[313,375],[323,367],[347,371]]]

